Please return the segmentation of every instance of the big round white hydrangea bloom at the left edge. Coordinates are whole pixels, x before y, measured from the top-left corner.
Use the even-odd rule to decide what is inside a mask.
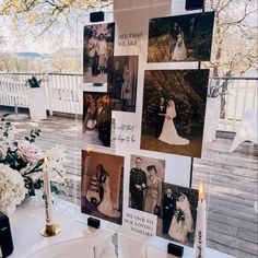
[[[0,211],[12,214],[27,192],[23,177],[17,171],[0,164]]]

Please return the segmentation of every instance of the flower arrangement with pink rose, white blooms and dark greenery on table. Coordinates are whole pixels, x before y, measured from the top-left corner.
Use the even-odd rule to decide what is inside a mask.
[[[64,192],[63,186],[69,184],[69,180],[66,177],[66,169],[62,165],[64,161],[64,153],[58,145],[55,145],[46,153],[43,153],[40,148],[35,144],[35,141],[39,134],[40,129],[33,129],[30,134],[24,138],[24,140],[15,140],[14,127],[4,119],[1,119],[0,179],[5,178],[5,180],[1,179],[0,194],[2,198],[5,196],[9,197],[10,200],[15,200],[10,201],[13,203],[11,208],[8,208],[7,202],[2,202],[0,204],[0,211],[13,211],[13,206],[15,207],[14,203],[19,204],[21,201],[20,199],[25,198],[23,192],[25,192],[26,196],[35,196],[35,190],[43,187],[43,163],[45,156],[48,157],[51,191],[55,194]],[[7,174],[10,174],[10,176],[7,177]],[[22,178],[22,183],[17,179],[19,176]],[[7,187],[9,183],[16,190],[13,190],[11,187]],[[20,195],[14,198],[12,192],[15,191],[20,192]]]

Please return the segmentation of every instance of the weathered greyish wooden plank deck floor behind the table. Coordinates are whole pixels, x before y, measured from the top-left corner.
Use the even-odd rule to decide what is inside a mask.
[[[55,143],[63,145],[66,168],[80,189],[80,150],[85,146],[79,120],[54,116],[38,122],[13,124],[20,139],[32,128],[40,128],[37,144],[43,151]],[[258,214],[254,204],[257,202],[258,145],[245,142],[230,153],[231,143],[232,139],[220,136],[215,142],[204,144],[202,159],[194,159],[192,187],[198,188],[199,178],[208,186],[208,246],[235,257],[256,258]]]

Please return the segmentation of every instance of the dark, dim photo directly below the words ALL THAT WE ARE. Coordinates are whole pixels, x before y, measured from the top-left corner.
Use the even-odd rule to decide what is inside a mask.
[[[108,72],[108,92],[112,92],[113,110],[136,112],[138,56],[116,56]]]

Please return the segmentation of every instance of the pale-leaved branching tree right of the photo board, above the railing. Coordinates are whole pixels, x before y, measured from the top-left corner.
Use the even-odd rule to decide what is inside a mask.
[[[257,2],[254,0],[209,0],[215,12],[213,77],[231,77],[257,69]]]

